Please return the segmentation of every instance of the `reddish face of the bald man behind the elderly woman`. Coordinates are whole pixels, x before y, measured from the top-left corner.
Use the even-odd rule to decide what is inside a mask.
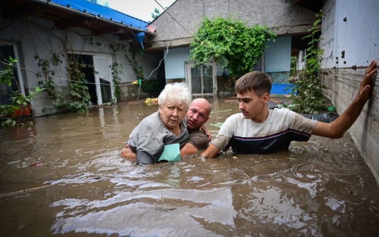
[[[187,111],[187,126],[189,129],[199,129],[209,119],[209,105],[202,100],[193,100]]]

